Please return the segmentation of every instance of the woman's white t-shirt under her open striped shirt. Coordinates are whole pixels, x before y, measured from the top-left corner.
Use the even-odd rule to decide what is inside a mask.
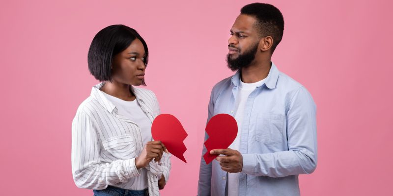
[[[113,97],[103,92],[106,98],[110,100],[113,105],[116,106],[117,112],[127,119],[133,121],[140,128],[140,135],[142,136],[143,145],[150,142],[151,136],[151,121],[140,108],[137,99],[133,101],[125,101],[120,98]],[[143,190],[146,189],[147,184],[147,170],[145,168],[140,169],[140,176],[129,179],[129,183],[132,183],[131,190]]]

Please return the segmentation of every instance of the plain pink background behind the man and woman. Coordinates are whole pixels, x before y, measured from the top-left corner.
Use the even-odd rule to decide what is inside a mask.
[[[0,2],[1,195],[92,195],[71,173],[71,122],[97,81],[94,35],[136,28],[150,50],[147,88],[188,131],[163,196],[196,195],[207,103],[229,29],[253,1],[15,0]],[[392,8],[389,0],[272,1],[285,31],[273,61],[318,109],[318,167],[303,196],[390,195],[393,175]]]

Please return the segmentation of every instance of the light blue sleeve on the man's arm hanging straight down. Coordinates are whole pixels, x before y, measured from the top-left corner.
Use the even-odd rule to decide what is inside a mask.
[[[210,95],[210,101],[207,112],[207,122],[213,117],[214,103],[213,103],[213,91]],[[209,135],[205,132],[204,141],[208,139]],[[203,155],[207,152],[205,145],[202,147],[202,156],[200,158],[199,166],[199,180],[198,180],[198,196],[210,196],[210,186],[212,177],[212,162],[206,165]]]

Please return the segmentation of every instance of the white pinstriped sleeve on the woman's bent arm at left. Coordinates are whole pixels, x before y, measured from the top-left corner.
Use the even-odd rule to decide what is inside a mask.
[[[94,122],[82,111],[78,111],[72,122],[72,174],[79,188],[105,189],[109,185],[127,182],[140,176],[135,158],[102,163],[101,145]]]

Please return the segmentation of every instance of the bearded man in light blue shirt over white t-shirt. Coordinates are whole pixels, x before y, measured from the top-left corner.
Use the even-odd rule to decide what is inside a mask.
[[[236,18],[227,63],[237,73],[213,87],[207,120],[232,115],[238,135],[229,148],[210,151],[221,156],[209,165],[203,147],[198,196],[299,196],[298,174],[315,170],[315,103],[271,62],[283,29],[270,4],[246,5]]]

